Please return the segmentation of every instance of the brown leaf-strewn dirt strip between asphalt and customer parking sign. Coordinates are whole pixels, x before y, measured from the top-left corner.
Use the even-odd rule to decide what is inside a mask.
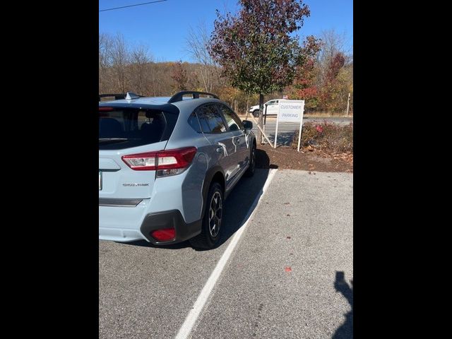
[[[256,168],[304,169],[311,172],[353,172],[353,155],[326,154],[319,150],[304,153],[294,148],[258,145]]]

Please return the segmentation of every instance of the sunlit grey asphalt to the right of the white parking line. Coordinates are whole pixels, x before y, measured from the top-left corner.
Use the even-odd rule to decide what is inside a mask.
[[[312,173],[277,172],[193,338],[352,338],[352,174]]]

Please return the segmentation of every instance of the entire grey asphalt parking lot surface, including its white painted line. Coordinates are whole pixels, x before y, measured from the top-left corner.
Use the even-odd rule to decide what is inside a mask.
[[[353,174],[256,169],[217,249],[100,242],[99,337],[352,338],[352,189]]]

